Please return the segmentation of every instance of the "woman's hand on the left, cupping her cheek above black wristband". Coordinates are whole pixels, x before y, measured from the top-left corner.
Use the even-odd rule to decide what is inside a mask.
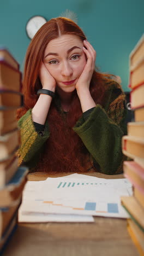
[[[56,80],[49,73],[49,71],[44,65],[44,62],[41,62],[41,65],[40,65],[39,78],[40,78],[41,85],[43,86],[43,89],[47,89],[55,92]]]

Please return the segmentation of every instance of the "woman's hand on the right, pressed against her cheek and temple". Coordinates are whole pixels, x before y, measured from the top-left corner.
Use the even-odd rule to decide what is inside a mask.
[[[93,46],[87,41],[83,41],[83,51],[87,56],[87,63],[85,68],[83,69],[79,79],[76,83],[76,90],[80,92],[81,90],[89,90],[89,85],[91,83],[94,67],[95,67],[95,59],[96,59],[96,51],[93,49]]]

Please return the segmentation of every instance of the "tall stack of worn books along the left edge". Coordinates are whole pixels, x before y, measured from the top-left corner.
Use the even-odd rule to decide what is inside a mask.
[[[17,226],[27,167],[17,167],[20,130],[16,109],[23,105],[19,64],[0,49],[0,254]]]

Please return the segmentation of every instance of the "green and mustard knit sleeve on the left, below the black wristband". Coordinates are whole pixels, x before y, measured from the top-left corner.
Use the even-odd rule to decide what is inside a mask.
[[[46,122],[44,132],[35,131],[35,126],[32,120],[32,109],[29,109],[18,121],[21,130],[21,147],[17,152],[19,156],[19,165],[23,162],[31,167],[31,160],[36,159],[36,155],[43,147],[43,144],[49,138],[50,131]],[[39,154],[38,154],[39,155]]]

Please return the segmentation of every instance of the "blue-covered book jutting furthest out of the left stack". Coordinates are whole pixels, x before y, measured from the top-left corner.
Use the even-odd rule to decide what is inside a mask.
[[[27,182],[27,174],[26,166],[17,168],[13,178],[4,188],[0,189],[0,207],[9,207],[17,203]]]

